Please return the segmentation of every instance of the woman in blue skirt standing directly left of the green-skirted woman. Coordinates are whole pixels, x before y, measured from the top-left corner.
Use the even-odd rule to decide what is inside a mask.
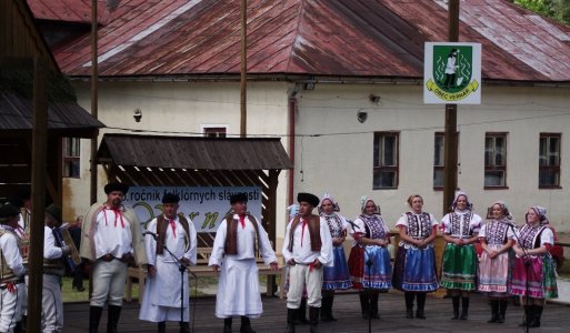
[[[417,299],[416,317],[423,320],[427,293],[438,289],[433,251],[438,221],[423,211],[421,195],[410,195],[408,204],[411,211],[403,213],[396,222],[401,241],[396,254],[392,283],[404,292],[406,317],[413,317],[413,299]]]

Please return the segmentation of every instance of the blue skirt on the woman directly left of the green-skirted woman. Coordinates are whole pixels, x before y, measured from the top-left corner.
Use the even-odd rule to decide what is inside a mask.
[[[433,248],[398,248],[392,276],[393,286],[404,292],[434,292],[438,287]]]

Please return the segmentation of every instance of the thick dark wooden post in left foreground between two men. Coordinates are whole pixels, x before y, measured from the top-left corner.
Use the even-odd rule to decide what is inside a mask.
[[[46,161],[48,141],[48,98],[43,58],[33,61],[33,124],[32,124],[32,220],[28,252],[28,332],[41,331],[41,294],[43,286],[43,220],[46,208]]]

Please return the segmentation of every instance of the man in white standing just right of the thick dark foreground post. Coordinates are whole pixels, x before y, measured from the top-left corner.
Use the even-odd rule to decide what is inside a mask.
[[[61,276],[66,272],[62,258],[71,253],[69,245],[56,239],[53,231],[60,228],[61,208],[50,204],[46,209],[43,226],[43,293],[41,297],[41,330],[57,333],[63,330],[63,302],[61,301]]]

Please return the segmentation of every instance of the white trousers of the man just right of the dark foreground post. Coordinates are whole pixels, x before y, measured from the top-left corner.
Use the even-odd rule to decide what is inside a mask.
[[[41,297],[41,331],[58,333],[63,330],[63,302],[61,301],[60,276],[43,274]]]

